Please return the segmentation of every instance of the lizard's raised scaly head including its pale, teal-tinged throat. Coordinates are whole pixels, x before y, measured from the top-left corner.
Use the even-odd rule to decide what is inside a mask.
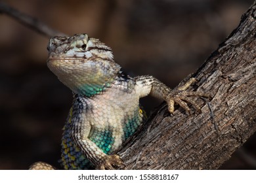
[[[49,69],[74,93],[88,97],[110,87],[121,69],[111,48],[87,34],[53,37],[47,50]]]

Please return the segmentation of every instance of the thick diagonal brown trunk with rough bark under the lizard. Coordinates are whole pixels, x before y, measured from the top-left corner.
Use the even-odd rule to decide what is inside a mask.
[[[119,152],[125,169],[217,169],[255,132],[255,10],[256,1],[192,75],[198,82],[190,90],[213,97],[214,118],[202,99],[202,113],[190,116],[181,108],[171,115],[162,105]]]

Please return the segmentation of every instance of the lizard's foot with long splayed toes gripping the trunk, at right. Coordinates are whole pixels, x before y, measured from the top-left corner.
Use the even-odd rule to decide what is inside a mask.
[[[179,86],[176,90],[172,90],[167,95],[167,104],[168,104],[168,110],[173,114],[174,112],[174,105],[175,103],[179,104],[188,114],[191,114],[191,110],[188,107],[187,103],[190,103],[198,112],[201,112],[200,106],[192,99],[191,97],[208,97],[210,98],[210,95],[207,95],[203,92],[189,92],[185,91],[192,83],[196,82],[196,78],[190,78],[188,82],[186,82],[183,86]]]

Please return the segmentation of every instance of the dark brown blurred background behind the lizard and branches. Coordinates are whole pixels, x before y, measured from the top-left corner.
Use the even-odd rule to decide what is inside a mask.
[[[68,35],[88,33],[112,47],[129,75],[174,87],[239,24],[253,0],[4,1]],[[72,93],[46,65],[48,37],[0,14],[0,169],[56,167]],[[143,99],[146,110],[161,101]],[[255,169],[256,135],[221,169]]]

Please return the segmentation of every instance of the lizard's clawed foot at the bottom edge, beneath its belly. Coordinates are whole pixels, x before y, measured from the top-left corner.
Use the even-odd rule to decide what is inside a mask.
[[[124,167],[125,165],[123,164],[123,161],[121,158],[117,155],[106,155],[100,162],[100,164],[96,167],[96,169],[99,170],[114,170],[114,167]]]

